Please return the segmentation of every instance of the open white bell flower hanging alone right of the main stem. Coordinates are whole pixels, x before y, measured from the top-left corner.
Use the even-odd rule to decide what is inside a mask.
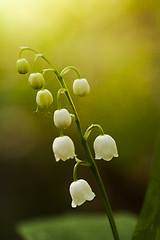
[[[110,161],[113,157],[118,157],[115,140],[110,135],[100,135],[94,141],[95,159],[103,158]]]

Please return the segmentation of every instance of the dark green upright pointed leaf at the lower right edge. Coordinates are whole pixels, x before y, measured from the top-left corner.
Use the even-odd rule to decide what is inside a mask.
[[[132,240],[160,239],[160,137],[157,141],[151,176]]]

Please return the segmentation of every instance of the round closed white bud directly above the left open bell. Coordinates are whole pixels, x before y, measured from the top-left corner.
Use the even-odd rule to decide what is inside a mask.
[[[57,128],[67,128],[72,121],[71,115],[67,109],[60,109],[54,112],[54,124]]]

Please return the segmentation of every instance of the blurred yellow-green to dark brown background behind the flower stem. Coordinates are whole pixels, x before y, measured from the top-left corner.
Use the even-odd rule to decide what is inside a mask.
[[[74,161],[56,163],[51,145],[58,130],[47,113],[35,114],[36,91],[15,67],[19,47],[44,53],[59,70],[76,66],[88,79],[88,97],[73,96],[77,77],[65,79],[83,130],[99,123],[117,142],[119,158],[98,161],[114,211],[139,214],[151,168],[160,112],[160,3],[156,0],[0,0],[0,239],[20,239],[21,220],[66,212],[103,212],[88,169],[94,201],[71,209],[68,188]],[[34,54],[25,52],[33,71]],[[47,67],[38,61],[39,71]],[[46,87],[56,109],[59,84]],[[64,98],[63,106],[71,111]],[[66,130],[84,159],[75,124]],[[90,146],[98,132],[89,138]]]

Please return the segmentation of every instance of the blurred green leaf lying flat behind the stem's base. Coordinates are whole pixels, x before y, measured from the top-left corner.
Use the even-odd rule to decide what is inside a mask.
[[[118,214],[115,217],[120,238],[129,240],[136,225],[136,217]],[[26,240],[113,240],[106,215],[65,215],[39,219],[18,226]]]

